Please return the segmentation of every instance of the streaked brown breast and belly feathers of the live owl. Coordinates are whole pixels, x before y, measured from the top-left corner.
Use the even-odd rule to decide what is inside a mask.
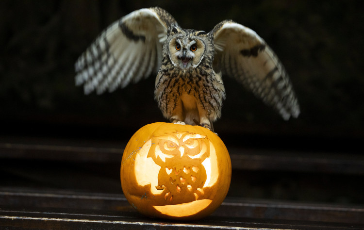
[[[164,59],[163,62],[169,60]],[[205,63],[196,68],[168,68],[162,65],[156,78],[155,99],[167,119],[178,116],[177,120],[194,124],[206,116],[214,121],[221,115],[225,88],[221,74]],[[202,114],[204,113],[204,114]],[[192,116],[192,117],[191,117]]]

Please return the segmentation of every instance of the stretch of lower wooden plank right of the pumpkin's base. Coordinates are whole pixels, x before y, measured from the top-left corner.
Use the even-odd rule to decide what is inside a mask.
[[[218,216],[244,216],[262,219],[324,221],[364,224],[364,207],[290,201],[232,199],[228,197],[219,207]]]

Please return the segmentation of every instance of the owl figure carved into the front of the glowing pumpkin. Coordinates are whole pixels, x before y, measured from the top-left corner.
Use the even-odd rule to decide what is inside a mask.
[[[207,179],[203,162],[210,156],[210,144],[206,136],[175,132],[165,136],[153,136],[148,156],[161,166],[157,190],[163,190],[166,203],[178,204],[197,200]],[[165,180],[168,178],[168,180]]]

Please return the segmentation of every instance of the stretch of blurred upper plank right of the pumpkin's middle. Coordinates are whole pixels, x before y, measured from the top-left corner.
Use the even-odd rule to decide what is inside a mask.
[[[364,156],[333,152],[229,148],[233,169],[364,175]]]

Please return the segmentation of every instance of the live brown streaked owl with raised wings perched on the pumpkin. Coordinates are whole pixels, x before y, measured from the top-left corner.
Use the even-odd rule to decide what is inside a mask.
[[[232,20],[212,31],[183,29],[159,7],[140,9],[105,29],[75,64],[76,85],[102,94],[156,75],[154,98],[171,122],[213,130],[226,98],[222,76],[278,111],[298,117],[298,100],[280,60],[253,30]]]

